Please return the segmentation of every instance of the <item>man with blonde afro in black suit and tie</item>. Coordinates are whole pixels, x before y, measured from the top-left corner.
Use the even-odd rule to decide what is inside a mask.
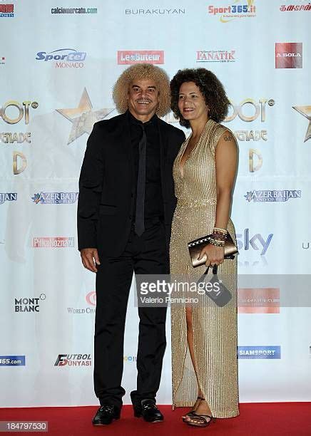
[[[173,162],[182,130],[159,117],[168,113],[168,76],[137,64],[113,88],[121,113],[94,124],[81,168],[78,249],[96,272],[94,388],[101,404],[93,425],[120,417],[123,341],[128,293],[135,274],[168,274],[170,227],[175,209]],[[153,294],[151,295],[153,296]],[[155,404],[165,351],[166,307],[142,306],[138,290],[137,388],[134,415],[159,422]]]

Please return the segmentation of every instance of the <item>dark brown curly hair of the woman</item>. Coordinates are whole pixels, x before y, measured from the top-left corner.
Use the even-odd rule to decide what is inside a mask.
[[[225,119],[230,101],[222,83],[212,71],[205,68],[186,68],[179,70],[170,81],[170,108],[173,110],[174,117],[179,119],[180,125],[190,128],[189,121],[183,118],[178,108],[180,86],[185,82],[194,82],[198,86],[208,105],[208,115],[212,120],[220,123]]]

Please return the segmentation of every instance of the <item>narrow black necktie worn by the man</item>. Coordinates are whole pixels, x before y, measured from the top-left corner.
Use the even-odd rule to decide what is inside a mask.
[[[135,233],[141,236],[145,231],[145,190],[146,190],[146,148],[147,137],[145,126],[139,124],[143,129],[143,136],[138,144],[138,177],[136,193],[136,212],[135,212]]]

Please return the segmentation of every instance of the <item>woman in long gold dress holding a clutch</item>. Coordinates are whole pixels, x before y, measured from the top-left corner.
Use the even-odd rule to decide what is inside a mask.
[[[235,417],[238,410],[237,261],[225,260],[223,235],[235,241],[230,207],[238,147],[219,123],[229,100],[218,78],[205,68],[178,71],[170,83],[171,108],[191,135],[173,165],[178,199],[170,239],[170,273],[197,281],[206,266],[193,268],[188,242],[214,234],[200,257],[218,265],[218,276],[232,294],[224,307],[201,296],[198,304],[171,306],[173,408],[191,407],[188,425],[206,427],[214,417]],[[218,241],[218,242],[217,242]]]

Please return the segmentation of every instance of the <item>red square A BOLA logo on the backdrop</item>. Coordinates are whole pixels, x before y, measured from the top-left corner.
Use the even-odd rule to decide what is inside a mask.
[[[275,43],[275,68],[302,68],[302,43]]]

